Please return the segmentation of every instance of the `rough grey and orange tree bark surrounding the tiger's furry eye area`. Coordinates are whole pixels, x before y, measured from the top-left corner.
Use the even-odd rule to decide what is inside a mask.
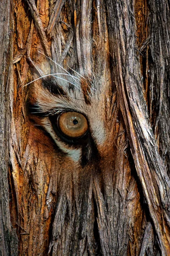
[[[170,3],[0,9],[0,255],[170,255]],[[29,107],[30,82],[59,66],[102,88],[110,139],[90,172],[61,159]]]

